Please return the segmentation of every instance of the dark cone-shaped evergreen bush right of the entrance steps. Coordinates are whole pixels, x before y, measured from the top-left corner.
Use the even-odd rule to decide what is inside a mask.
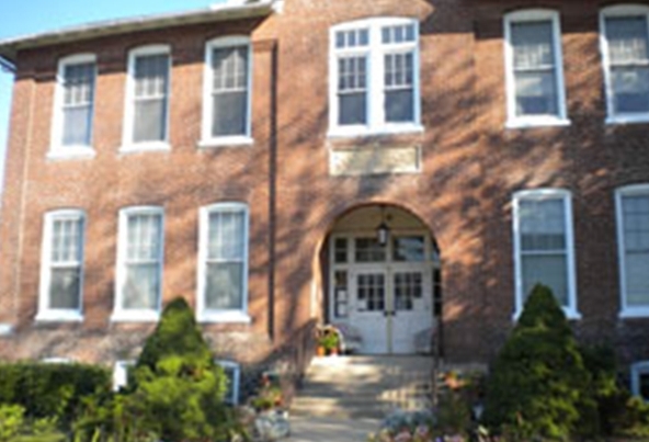
[[[513,439],[567,440],[594,413],[590,374],[551,291],[534,287],[487,384],[485,423]]]

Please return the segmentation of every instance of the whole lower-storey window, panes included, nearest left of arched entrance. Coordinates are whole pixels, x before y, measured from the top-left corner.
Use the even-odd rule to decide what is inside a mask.
[[[249,322],[248,206],[219,203],[201,209],[198,320]]]

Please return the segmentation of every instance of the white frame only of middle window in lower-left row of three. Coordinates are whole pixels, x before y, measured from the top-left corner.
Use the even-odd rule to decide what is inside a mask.
[[[124,308],[126,281],[126,253],[128,251],[128,218],[133,215],[160,215],[160,250],[158,257],[158,305],[156,308]],[[117,227],[117,264],[115,270],[115,296],[111,321],[158,321],[162,309],[162,277],[164,274],[164,208],[162,206],[129,206],[119,211]]]

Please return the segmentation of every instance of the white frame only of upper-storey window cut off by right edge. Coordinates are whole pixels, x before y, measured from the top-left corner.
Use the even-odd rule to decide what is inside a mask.
[[[647,44],[649,45],[649,5],[638,3],[615,4],[603,8],[600,11],[600,52],[602,56],[602,70],[604,71],[604,91],[606,94],[606,124],[649,122],[649,111],[638,113],[615,113],[613,78],[611,75],[611,56],[608,52],[608,38],[606,37],[606,19],[611,16],[624,18],[630,15],[645,15],[648,36]]]

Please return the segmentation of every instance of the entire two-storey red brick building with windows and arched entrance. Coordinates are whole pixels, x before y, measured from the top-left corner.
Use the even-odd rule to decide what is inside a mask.
[[[258,0],[0,42],[4,358],[488,362],[536,282],[649,396],[649,2]],[[425,339],[424,339],[425,343]]]

